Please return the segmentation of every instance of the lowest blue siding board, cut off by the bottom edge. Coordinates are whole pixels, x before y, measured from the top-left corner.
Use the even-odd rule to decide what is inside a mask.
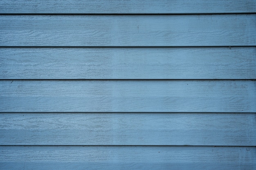
[[[255,147],[1,146],[1,170],[253,170]]]

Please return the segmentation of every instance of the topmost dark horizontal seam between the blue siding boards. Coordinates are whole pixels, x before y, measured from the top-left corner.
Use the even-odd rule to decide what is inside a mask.
[[[0,13],[0,15],[247,15],[256,12],[233,13]]]

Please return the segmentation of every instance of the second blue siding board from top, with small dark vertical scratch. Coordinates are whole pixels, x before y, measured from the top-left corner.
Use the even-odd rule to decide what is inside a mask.
[[[256,14],[0,15],[0,46],[255,46]]]

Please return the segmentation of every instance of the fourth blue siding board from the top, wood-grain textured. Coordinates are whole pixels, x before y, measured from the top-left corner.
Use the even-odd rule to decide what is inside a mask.
[[[255,113],[251,80],[0,81],[1,112]]]

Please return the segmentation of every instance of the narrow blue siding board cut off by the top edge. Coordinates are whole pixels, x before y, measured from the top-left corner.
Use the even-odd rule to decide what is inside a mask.
[[[255,0],[1,0],[0,13],[253,13]]]

